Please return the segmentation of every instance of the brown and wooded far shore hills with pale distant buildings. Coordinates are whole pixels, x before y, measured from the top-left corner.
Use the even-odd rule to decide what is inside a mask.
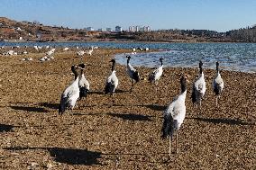
[[[127,29],[71,29],[43,25],[41,22],[17,22],[0,17],[1,41],[159,41],[159,42],[256,42],[256,25],[239,30],[151,30],[149,25],[131,25]]]

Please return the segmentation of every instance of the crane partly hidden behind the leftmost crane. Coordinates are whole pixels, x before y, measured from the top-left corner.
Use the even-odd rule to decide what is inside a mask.
[[[87,78],[84,74],[84,70],[86,65],[85,64],[79,64],[78,67],[80,68],[80,75],[79,75],[79,82],[78,82],[78,86],[79,86],[79,100],[81,100],[83,97],[87,98],[87,94],[90,91],[90,84],[87,81]]]

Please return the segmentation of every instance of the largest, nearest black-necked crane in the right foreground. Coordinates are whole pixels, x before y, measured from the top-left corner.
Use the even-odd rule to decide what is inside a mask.
[[[176,153],[178,153],[178,130],[183,123],[186,116],[186,95],[187,95],[187,78],[182,75],[180,77],[181,94],[169,104],[167,110],[163,112],[163,126],[161,129],[162,139],[169,137],[169,156],[171,141],[176,132]]]

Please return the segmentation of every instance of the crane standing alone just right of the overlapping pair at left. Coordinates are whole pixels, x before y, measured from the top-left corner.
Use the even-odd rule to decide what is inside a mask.
[[[112,62],[112,67],[111,67],[111,75],[107,77],[106,81],[105,81],[105,94],[112,94],[112,96],[114,95],[114,91],[118,85],[118,78],[115,75],[115,70],[114,70],[114,66],[115,66],[115,60],[112,59],[110,62]]]

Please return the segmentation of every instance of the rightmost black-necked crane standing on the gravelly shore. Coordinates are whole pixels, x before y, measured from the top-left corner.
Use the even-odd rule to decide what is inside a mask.
[[[213,81],[213,89],[216,95],[216,107],[218,107],[218,98],[223,92],[224,89],[224,81],[219,71],[219,62],[216,62],[216,76]]]

